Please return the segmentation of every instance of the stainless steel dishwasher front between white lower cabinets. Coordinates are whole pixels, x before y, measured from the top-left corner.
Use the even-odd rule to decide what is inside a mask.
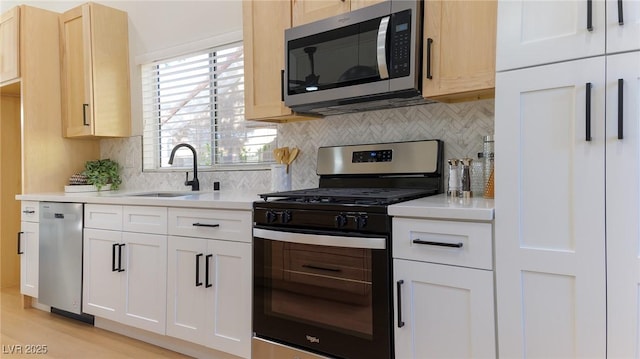
[[[82,313],[83,209],[82,203],[40,203],[38,302],[78,315]]]

